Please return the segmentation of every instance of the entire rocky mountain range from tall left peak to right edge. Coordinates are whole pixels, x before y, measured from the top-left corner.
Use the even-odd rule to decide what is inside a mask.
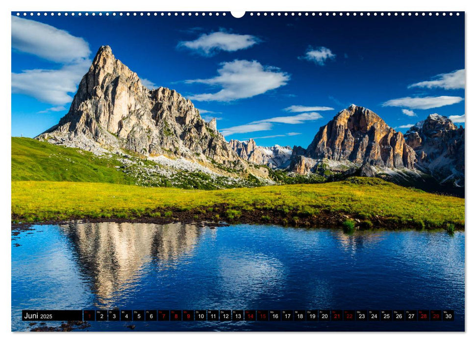
[[[426,182],[430,190],[464,194],[464,128],[446,117],[430,115],[403,135],[371,110],[351,105],[322,126],[307,148],[226,142],[215,120],[205,122],[174,90],[144,87],[108,46],[83,76],[69,112],[36,139],[98,155],[138,154],[162,164],[179,158],[190,163],[176,168],[251,175],[268,184],[275,182],[273,171],[281,170],[290,177],[378,176],[416,187]]]

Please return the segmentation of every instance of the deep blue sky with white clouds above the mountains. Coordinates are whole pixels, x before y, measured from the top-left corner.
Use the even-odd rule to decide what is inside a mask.
[[[101,45],[191,98],[225,138],[307,147],[351,103],[390,126],[464,125],[463,16],[12,16],[12,136],[68,111]]]

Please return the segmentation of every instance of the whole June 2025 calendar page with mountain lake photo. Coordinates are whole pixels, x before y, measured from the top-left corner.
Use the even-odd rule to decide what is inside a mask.
[[[465,331],[465,12],[10,20],[12,331]]]

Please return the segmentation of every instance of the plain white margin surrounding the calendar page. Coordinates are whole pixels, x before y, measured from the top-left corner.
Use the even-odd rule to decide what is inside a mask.
[[[134,0],[127,2],[111,1],[111,0],[82,0],[80,2],[67,2],[59,0],[23,0],[21,2],[8,1],[5,5],[3,1],[1,7],[1,47],[3,47],[3,56],[1,57],[2,68],[0,78],[1,82],[1,99],[0,103],[4,104],[3,124],[0,124],[0,139],[2,151],[7,154],[4,157],[6,165],[0,169],[1,175],[1,202],[0,214],[3,226],[2,248],[0,249],[2,263],[2,287],[3,293],[1,310],[0,310],[0,328],[4,342],[95,342],[100,340],[114,339],[115,342],[125,342],[130,340],[141,340],[143,342],[170,340],[170,342],[190,341],[190,342],[223,342],[234,343],[243,341],[263,341],[273,340],[274,342],[296,342],[311,343],[320,340],[336,340],[334,342],[343,341],[365,341],[365,342],[385,342],[385,343],[401,343],[401,341],[432,341],[448,343],[453,340],[458,342],[475,342],[476,329],[473,326],[476,318],[472,311],[475,311],[475,295],[471,292],[470,286],[474,286],[474,250],[468,247],[474,243],[471,241],[472,229],[475,227],[475,212],[466,211],[466,333],[11,333],[11,241],[10,241],[10,213],[11,213],[11,160],[8,156],[11,151],[11,11],[294,11],[294,12],[324,12],[324,11],[466,11],[466,94],[465,94],[465,128],[471,129],[471,118],[474,106],[471,96],[474,94],[472,81],[476,80],[476,72],[469,68],[468,61],[475,58],[475,26],[472,20],[476,15],[473,11],[475,6],[471,6],[470,1],[452,0],[441,1],[418,1],[418,0],[399,0],[393,3],[388,1],[376,0],[360,0],[350,1],[309,1],[309,0],[293,0],[282,1],[281,3],[264,1],[264,0],[240,0],[240,1],[218,1],[218,0],[181,0],[181,1],[151,1],[151,0]],[[442,49],[445,49],[442,46]],[[470,57],[473,56],[473,57]],[[8,81],[7,81],[8,80]],[[469,111],[468,111],[469,110]],[[469,115],[468,115],[469,112]],[[476,116],[476,114],[475,114]],[[468,120],[468,118],[470,118]],[[466,134],[466,209],[475,206],[475,181],[472,177],[475,171],[475,160],[472,159],[472,153],[476,151],[475,147],[476,135]],[[473,208],[474,209],[474,208]],[[8,235],[8,236],[7,236]],[[468,237],[470,240],[468,240]],[[476,291],[474,291],[476,292]],[[67,335],[67,337],[65,336]],[[471,338],[472,337],[472,338]]]

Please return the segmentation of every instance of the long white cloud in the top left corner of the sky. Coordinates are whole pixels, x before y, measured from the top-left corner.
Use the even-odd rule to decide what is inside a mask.
[[[65,30],[12,16],[12,49],[49,61],[73,63],[88,58],[88,43]]]

